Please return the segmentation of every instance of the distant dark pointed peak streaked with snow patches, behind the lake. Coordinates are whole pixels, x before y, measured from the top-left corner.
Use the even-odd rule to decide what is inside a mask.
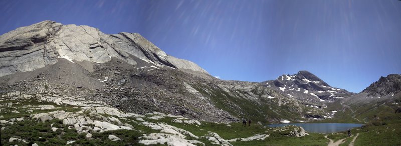
[[[344,89],[331,87],[308,71],[299,71],[294,75],[282,75],[276,80],[264,81],[261,84],[286,96],[311,102],[344,98],[354,94]]]

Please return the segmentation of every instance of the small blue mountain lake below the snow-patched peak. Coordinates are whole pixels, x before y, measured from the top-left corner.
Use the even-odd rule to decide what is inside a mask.
[[[363,124],[354,123],[282,123],[270,124],[269,127],[283,127],[286,125],[296,125],[303,127],[308,132],[333,133],[346,131],[348,128],[361,127]]]

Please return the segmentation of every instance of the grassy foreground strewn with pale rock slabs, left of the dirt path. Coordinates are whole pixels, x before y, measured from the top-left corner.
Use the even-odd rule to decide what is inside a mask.
[[[1,138],[5,145],[232,145],[230,142],[263,140],[277,133],[298,137],[308,135],[302,127],[259,126],[261,133],[224,139],[209,131],[214,129],[210,124],[230,128],[228,123],[205,123],[161,112],[123,112],[103,101],[49,92],[10,92],[2,95],[0,107]]]

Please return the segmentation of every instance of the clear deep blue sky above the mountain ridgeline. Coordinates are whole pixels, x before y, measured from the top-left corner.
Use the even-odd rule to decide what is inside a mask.
[[[308,70],[360,92],[401,73],[401,1],[0,1],[0,34],[44,20],[137,32],[224,80]]]

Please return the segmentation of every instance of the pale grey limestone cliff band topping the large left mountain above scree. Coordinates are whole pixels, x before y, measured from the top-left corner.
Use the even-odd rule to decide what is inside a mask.
[[[104,63],[139,58],[159,67],[208,73],[193,62],[167,55],[137,33],[104,34],[88,26],[43,21],[0,36],[0,76],[55,64],[57,58]]]

